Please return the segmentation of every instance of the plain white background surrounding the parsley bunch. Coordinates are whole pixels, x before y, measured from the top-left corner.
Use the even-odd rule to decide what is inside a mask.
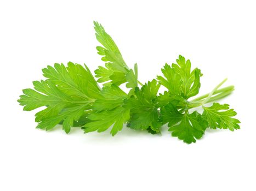
[[[1,1],[0,190],[256,190],[255,1]],[[179,54],[201,69],[204,94],[228,77],[241,129],[207,130],[187,145],[124,128],[83,134],[35,129],[21,89],[55,62],[104,65],[93,20],[103,24],[139,79]]]

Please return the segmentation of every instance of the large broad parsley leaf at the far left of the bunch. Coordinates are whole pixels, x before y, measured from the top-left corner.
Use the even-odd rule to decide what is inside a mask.
[[[64,64],[48,66],[43,69],[43,75],[47,80],[34,81],[35,89],[24,89],[18,102],[26,111],[46,106],[35,115],[37,128],[49,130],[62,122],[65,132],[69,133],[74,121],[92,108],[100,89],[87,67],[71,62],[67,67]]]

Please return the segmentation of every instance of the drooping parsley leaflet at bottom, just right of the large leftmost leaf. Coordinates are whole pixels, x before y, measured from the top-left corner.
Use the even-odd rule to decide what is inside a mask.
[[[129,117],[130,110],[123,107],[117,107],[109,111],[93,112],[88,117],[92,122],[84,125],[84,132],[88,133],[96,130],[104,132],[113,125],[110,133],[114,136],[118,131],[122,130],[123,123],[126,123]]]

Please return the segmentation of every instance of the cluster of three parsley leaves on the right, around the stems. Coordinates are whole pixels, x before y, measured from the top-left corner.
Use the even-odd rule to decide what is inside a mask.
[[[158,106],[161,107],[162,123],[168,123],[172,135],[190,144],[196,142],[196,139],[200,139],[207,127],[238,129],[240,121],[232,118],[236,112],[227,110],[229,109],[227,104],[214,103],[212,107],[206,108],[203,106],[204,100],[198,103],[187,100],[199,92],[202,74],[197,68],[191,71],[190,61],[186,61],[183,56],[179,56],[177,63],[172,64],[172,67],[168,64],[164,65],[162,69],[164,77],[157,76],[161,85],[168,89],[168,92],[158,96]],[[207,99],[207,102],[208,100],[211,99]],[[189,114],[191,108],[198,106],[203,106],[203,115],[196,111]]]

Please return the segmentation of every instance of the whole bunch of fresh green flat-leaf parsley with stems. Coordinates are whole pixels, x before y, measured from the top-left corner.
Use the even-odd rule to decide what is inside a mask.
[[[206,128],[240,129],[236,112],[227,104],[215,103],[234,91],[234,86],[219,89],[226,80],[211,93],[191,100],[199,92],[202,73],[198,68],[192,70],[189,59],[179,56],[177,63],[164,65],[161,76],[142,84],[137,65],[130,69],[103,26],[94,22],[94,28],[102,45],[96,49],[105,62],[105,67],[95,70],[97,81],[86,65],[55,63],[42,70],[46,80],[34,81],[34,89],[23,90],[18,102],[24,110],[44,106],[35,115],[37,128],[50,130],[60,123],[66,133],[71,127],[82,127],[85,133],[111,128],[115,135],[126,123],[134,130],[158,134],[168,123],[172,136],[187,144],[200,139]],[[119,87],[123,83],[130,89],[128,94]],[[158,93],[160,86],[167,89],[163,94]],[[212,106],[205,105],[210,102]],[[202,114],[190,112],[200,107]]]

